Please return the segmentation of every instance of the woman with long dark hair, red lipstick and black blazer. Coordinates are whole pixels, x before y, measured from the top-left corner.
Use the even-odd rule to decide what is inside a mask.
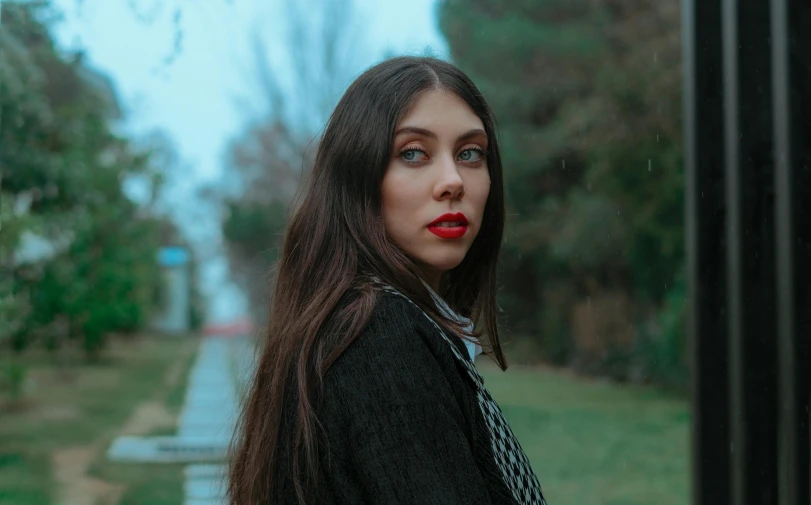
[[[284,237],[233,505],[545,503],[473,365],[482,338],[507,368],[503,228],[494,120],[473,83],[432,58],[361,75]]]

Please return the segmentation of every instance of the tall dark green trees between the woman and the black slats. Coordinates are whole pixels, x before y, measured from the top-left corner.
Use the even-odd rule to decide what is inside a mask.
[[[677,0],[442,3],[452,57],[499,118],[510,216],[501,304],[509,327],[540,335],[551,361],[596,356],[603,372],[628,377],[640,359],[650,372],[665,353],[682,370],[678,8]],[[623,297],[622,310],[593,309]],[[599,348],[586,349],[594,338]]]

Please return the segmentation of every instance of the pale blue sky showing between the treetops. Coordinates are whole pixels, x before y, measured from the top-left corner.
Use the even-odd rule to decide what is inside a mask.
[[[216,214],[193,201],[191,195],[199,184],[225,175],[224,149],[247,119],[236,100],[247,98],[249,104],[252,100],[253,90],[245,82],[244,72],[250,65],[252,27],[263,28],[271,57],[284,56],[279,26],[283,2],[53,1],[65,15],[55,30],[58,43],[66,49],[84,48],[89,63],[113,79],[126,115],[124,129],[135,137],[159,129],[177,150],[182,176],[173,181],[172,201],[176,203],[172,213],[196,243],[212,244],[204,251],[202,288],[210,297],[213,321],[239,317],[245,301],[227,281]],[[446,56],[447,45],[437,27],[436,0],[355,0],[354,5],[366,41],[364,51],[353,55],[356,73],[390,53],[421,54],[430,48]],[[175,6],[182,7],[182,52],[165,65],[176,33]],[[151,19],[139,20],[139,16]],[[259,108],[260,97],[256,103]]]

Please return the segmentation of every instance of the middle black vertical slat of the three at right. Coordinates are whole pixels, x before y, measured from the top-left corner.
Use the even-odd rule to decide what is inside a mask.
[[[732,503],[777,503],[777,334],[768,0],[723,0]]]

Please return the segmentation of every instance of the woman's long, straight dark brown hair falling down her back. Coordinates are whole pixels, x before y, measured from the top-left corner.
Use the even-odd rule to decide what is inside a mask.
[[[490,172],[479,234],[462,263],[444,273],[439,294],[475,323],[473,336],[502,370],[507,368],[496,323],[496,263],[505,211],[493,114],[473,82],[450,63],[426,57],[386,60],[358,77],[341,98],[289,220],[264,349],[232,447],[232,505],[272,503],[280,485],[277,465],[292,465],[299,503],[307,502],[322,456],[315,414],[323,377],[368,322],[378,293],[373,278],[409,296],[448,331],[469,336],[441,315],[421,281],[421,265],[387,238],[381,215],[381,183],[395,128],[420,94],[433,89],[456,94],[481,119]],[[289,453],[282,454],[283,406],[290,397],[296,399],[293,438]]]

